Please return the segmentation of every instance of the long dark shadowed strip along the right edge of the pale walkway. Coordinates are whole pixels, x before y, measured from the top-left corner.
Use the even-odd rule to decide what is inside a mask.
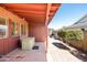
[[[78,59],[80,59],[83,62],[87,62],[87,53],[84,53],[84,52],[78,51],[78,50],[70,50],[69,47],[65,46],[62,43],[53,42],[52,44],[54,46],[56,46],[57,48],[62,48],[62,50],[68,51],[72,55],[74,55]]]

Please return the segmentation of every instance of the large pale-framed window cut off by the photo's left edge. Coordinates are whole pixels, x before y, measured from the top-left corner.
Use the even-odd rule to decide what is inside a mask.
[[[0,18],[0,37],[6,37],[8,31],[7,20]]]

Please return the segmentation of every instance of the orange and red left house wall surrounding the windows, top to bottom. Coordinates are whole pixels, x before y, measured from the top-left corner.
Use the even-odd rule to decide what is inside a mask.
[[[18,36],[11,35],[11,20],[20,24],[26,24],[26,26],[28,26],[28,23],[23,19],[19,18],[18,15],[11,13],[10,11],[1,7],[0,7],[0,17],[7,19],[8,29],[9,29],[9,31],[7,32],[8,36],[0,39],[0,55],[2,55],[2,54],[7,54],[11,52],[12,50],[17,48],[18,41],[20,40],[20,35]]]

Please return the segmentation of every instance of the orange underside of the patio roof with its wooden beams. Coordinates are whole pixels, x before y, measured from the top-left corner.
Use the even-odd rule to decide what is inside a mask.
[[[1,3],[0,6],[28,22],[48,24],[61,3]]]

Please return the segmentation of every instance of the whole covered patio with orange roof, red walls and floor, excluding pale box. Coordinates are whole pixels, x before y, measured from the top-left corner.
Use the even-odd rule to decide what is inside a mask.
[[[0,25],[7,26],[4,34],[0,32],[0,59],[46,62],[47,25],[59,7],[61,3],[0,3]],[[23,37],[34,37],[39,50],[19,48],[18,41]]]

